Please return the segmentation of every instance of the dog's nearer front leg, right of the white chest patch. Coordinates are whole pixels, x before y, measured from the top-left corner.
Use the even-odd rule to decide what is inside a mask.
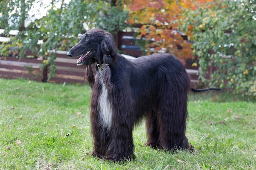
[[[113,115],[110,132],[110,140],[105,159],[122,161],[134,159],[134,144],[132,130],[134,127],[134,115],[129,105],[131,97],[122,97],[122,92],[117,93],[120,97],[113,97]]]

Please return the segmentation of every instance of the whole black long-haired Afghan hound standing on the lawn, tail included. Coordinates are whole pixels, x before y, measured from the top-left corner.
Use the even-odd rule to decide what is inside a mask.
[[[132,131],[143,117],[146,145],[168,151],[189,149],[188,93],[221,91],[192,88],[184,65],[171,54],[125,59],[117,54],[113,36],[99,28],[87,31],[67,56],[81,56],[77,65],[87,67],[92,155],[107,160],[134,158]]]

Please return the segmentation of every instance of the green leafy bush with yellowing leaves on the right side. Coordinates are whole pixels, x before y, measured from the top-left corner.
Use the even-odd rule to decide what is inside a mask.
[[[193,27],[189,38],[199,59],[199,78],[256,98],[256,1],[215,1],[186,15],[181,29]],[[211,63],[216,70],[206,79]]]

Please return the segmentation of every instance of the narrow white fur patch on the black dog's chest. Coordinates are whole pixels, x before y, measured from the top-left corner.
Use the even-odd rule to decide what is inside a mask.
[[[112,122],[112,105],[108,99],[108,91],[103,83],[102,71],[99,71],[99,79],[102,84],[102,92],[99,96],[99,119],[103,127],[110,130]]]

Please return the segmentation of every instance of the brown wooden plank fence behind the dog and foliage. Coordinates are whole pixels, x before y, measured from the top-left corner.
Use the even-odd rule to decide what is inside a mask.
[[[122,54],[133,57],[140,57],[142,51],[135,45],[133,37],[134,32],[119,31],[116,34],[115,41],[117,48]],[[0,41],[1,44],[1,41]],[[82,83],[84,82],[84,66],[76,66],[76,59],[70,59],[66,56],[67,51],[57,51],[56,53],[56,76],[52,77],[49,82],[67,82]],[[15,55],[12,57],[0,57],[0,77],[32,79],[42,81],[43,74],[40,70],[42,57],[35,57],[30,51],[26,52],[26,58],[19,58]],[[191,76],[192,82],[197,82],[198,67],[192,67],[192,61],[186,61],[186,70]]]

